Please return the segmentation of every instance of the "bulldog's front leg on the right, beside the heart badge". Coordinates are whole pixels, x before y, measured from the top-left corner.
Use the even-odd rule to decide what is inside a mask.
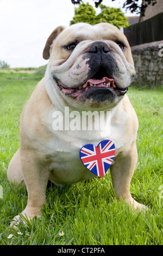
[[[137,203],[130,194],[130,182],[137,163],[136,143],[133,142],[131,149],[126,153],[118,154],[114,161],[115,163],[110,166],[110,173],[116,198],[123,198],[135,209],[145,208],[145,205]]]

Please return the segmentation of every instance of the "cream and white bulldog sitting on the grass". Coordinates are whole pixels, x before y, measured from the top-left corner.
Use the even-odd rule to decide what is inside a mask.
[[[49,59],[45,77],[23,109],[20,149],[7,174],[9,181],[27,186],[28,203],[21,214],[29,219],[41,216],[48,180],[65,186],[95,177],[80,161],[79,151],[103,139],[115,143],[110,172],[116,198],[135,209],[143,208],[130,194],[137,163],[138,120],[126,95],[135,75],[126,36],[109,23],[59,26],[47,39],[43,58]],[[65,125],[53,129],[54,113],[60,111],[65,117],[65,107],[80,114],[110,111],[111,128],[89,130],[86,123],[84,129],[64,129]],[[78,115],[76,121],[80,121]],[[68,122],[65,119],[66,126]],[[17,215],[11,226],[19,220]]]

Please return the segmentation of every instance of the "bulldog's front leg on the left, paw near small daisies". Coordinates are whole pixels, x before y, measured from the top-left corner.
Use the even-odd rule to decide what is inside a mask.
[[[46,202],[46,187],[50,172],[34,157],[32,151],[21,151],[21,167],[28,192],[27,206],[21,214],[30,221],[34,216],[41,217],[40,210]],[[10,227],[15,228],[15,224],[18,224],[20,220],[20,215],[15,216]]]

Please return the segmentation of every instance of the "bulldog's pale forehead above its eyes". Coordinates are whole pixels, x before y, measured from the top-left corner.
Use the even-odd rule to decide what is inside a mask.
[[[57,41],[67,42],[73,40],[122,40],[128,45],[126,36],[115,26],[108,23],[89,25],[77,23],[64,29]]]

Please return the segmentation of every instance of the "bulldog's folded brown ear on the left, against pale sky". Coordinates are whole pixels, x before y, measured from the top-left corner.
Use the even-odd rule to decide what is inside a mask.
[[[57,36],[65,29],[66,27],[64,26],[59,26],[57,28],[54,29],[54,31],[52,32],[52,34],[48,37],[47,41],[46,41],[46,45],[43,49],[43,53],[42,56],[44,59],[49,59],[50,57],[50,46],[53,44],[53,41],[55,38],[57,38]]]

